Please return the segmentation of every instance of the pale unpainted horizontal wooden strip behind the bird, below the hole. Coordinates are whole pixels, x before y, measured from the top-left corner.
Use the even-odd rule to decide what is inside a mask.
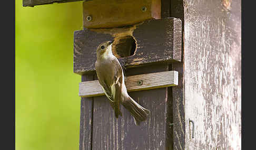
[[[142,85],[139,81],[142,81]],[[125,85],[128,92],[172,87],[178,85],[178,72],[164,71],[130,76],[127,77]],[[80,97],[104,95],[98,80],[81,82],[79,87]]]

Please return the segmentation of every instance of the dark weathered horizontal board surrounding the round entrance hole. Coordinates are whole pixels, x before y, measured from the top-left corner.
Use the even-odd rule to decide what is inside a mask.
[[[125,67],[149,65],[154,62],[168,64],[181,60],[182,35],[180,19],[147,20],[132,29],[127,29],[125,36],[130,34],[134,37],[136,51],[133,56],[119,58],[119,61]],[[117,28],[112,29],[112,31],[115,30]],[[117,34],[112,36],[115,37],[115,35]],[[119,36],[121,35],[119,34]],[[113,40],[112,36],[95,30],[75,31],[74,72],[78,74],[93,73],[95,71],[96,47],[103,41]]]

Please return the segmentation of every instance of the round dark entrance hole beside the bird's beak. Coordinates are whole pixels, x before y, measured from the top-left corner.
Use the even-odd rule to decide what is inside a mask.
[[[117,58],[133,56],[136,52],[136,40],[130,35],[115,37],[112,52]]]

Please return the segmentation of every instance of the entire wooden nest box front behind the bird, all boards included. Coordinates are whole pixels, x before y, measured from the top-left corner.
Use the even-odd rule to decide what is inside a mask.
[[[173,148],[178,118],[171,87],[180,83],[172,63],[181,62],[182,22],[161,16],[161,6],[156,0],[83,3],[84,29],[74,34],[74,72],[82,75],[80,149]],[[129,95],[151,111],[140,126],[123,106],[123,116],[115,118],[97,81],[96,48],[108,40],[126,68]]]

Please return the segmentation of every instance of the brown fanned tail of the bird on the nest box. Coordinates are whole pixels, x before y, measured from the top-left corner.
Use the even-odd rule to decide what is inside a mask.
[[[125,109],[127,109],[132,116],[136,125],[140,125],[142,121],[145,121],[150,110],[143,108],[140,104],[135,102],[130,96],[122,101]]]

